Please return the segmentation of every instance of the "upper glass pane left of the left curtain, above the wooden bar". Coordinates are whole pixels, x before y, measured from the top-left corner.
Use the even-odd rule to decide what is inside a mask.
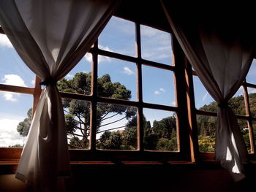
[[[35,75],[23,63],[6,35],[0,34],[0,83],[34,87]]]

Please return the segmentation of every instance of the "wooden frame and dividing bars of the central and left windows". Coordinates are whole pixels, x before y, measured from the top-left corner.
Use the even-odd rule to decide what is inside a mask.
[[[99,49],[97,42],[94,47],[91,47],[89,53],[92,54],[91,64],[91,95],[82,95],[78,93],[64,93],[60,92],[61,98],[64,99],[78,99],[91,102],[91,125],[90,125],[90,148],[89,150],[75,150],[69,149],[70,161],[160,161],[162,163],[170,162],[195,162],[195,140],[192,137],[192,129],[189,127],[189,112],[187,107],[187,80],[185,75],[186,57],[181,50],[180,45],[175,37],[172,37],[173,44],[173,66],[167,64],[160,64],[154,61],[148,61],[141,56],[141,42],[140,42],[140,25],[141,23],[135,22],[135,37],[136,37],[136,56],[122,55],[113,53],[107,50]],[[0,28],[1,31],[1,28]],[[170,31],[167,31],[170,33]],[[3,31],[2,31],[2,34]],[[170,34],[171,35],[171,34]],[[137,66],[137,94],[138,101],[120,100],[104,98],[97,95],[97,62],[98,56],[103,55],[110,58],[117,58],[123,61],[129,61]],[[162,104],[151,104],[143,102],[142,90],[142,66],[151,66],[158,69],[168,70],[173,72],[175,90],[176,90],[176,107],[166,106]],[[41,94],[41,80],[36,77],[34,88],[24,88],[12,85],[0,84],[0,91],[11,91],[16,93],[27,93],[34,96],[33,114],[37,107],[39,96]],[[138,150],[99,150],[96,148],[96,112],[97,103],[119,104],[129,107],[137,107],[138,109]],[[176,112],[177,117],[177,138],[178,138],[178,151],[177,152],[163,152],[163,151],[150,151],[144,150],[143,146],[143,108],[153,110],[165,110]],[[0,148],[0,161],[1,162],[18,162],[22,148]]]

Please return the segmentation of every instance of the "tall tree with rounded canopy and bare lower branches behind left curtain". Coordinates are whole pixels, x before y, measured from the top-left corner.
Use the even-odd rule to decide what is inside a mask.
[[[91,93],[91,73],[79,72],[70,80],[64,78],[57,83],[57,87],[59,88],[59,91],[89,95]],[[120,82],[111,82],[109,74],[105,74],[98,78],[97,92],[99,96],[113,99],[128,100],[131,98],[131,91],[129,91],[124,85],[121,85]],[[88,147],[90,134],[90,102],[75,99],[62,99],[62,103],[64,106],[69,147]],[[99,128],[106,126],[102,125],[104,120],[110,120],[111,118],[113,119],[116,117],[116,115],[123,114],[124,118],[129,119],[135,115],[135,110],[132,107],[126,106],[98,104],[97,131],[99,131]],[[118,120],[115,119],[115,122],[124,118],[120,118]],[[111,123],[108,123],[108,125]],[[31,112],[28,112],[28,118],[19,123],[17,130],[20,134],[26,136],[29,131],[30,124]]]

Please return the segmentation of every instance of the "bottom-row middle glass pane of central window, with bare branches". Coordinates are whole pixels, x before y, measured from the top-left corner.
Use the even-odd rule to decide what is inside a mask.
[[[137,109],[123,105],[97,105],[97,148],[137,150]]]

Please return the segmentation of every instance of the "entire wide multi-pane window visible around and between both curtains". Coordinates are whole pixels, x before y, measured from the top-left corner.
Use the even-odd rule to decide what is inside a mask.
[[[26,142],[41,80],[4,34],[0,54],[1,152]],[[255,65],[229,101],[249,153],[255,153]],[[214,152],[217,103],[170,32],[113,17],[57,86],[72,161],[195,161],[197,152]]]

